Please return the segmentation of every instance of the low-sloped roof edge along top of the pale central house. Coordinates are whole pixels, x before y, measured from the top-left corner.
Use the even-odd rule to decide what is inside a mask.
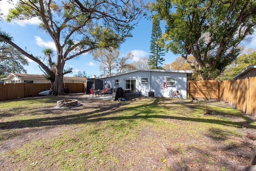
[[[141,70],[132,70],[132,71],[127,71],[127,72],[122,72],[122,73],[118,73],[118,74],[113,74],[111,76],[101,76],[101,78],[109,78],[109,77],[114,77],[114,76],[121,76],[124,74],[130,74],[133,72],[141,72],[141,71],[146,71],[146,72],[174,72],[174,73],[187,73],[187,74],[192,74],[193,71],[191,70],[156,70],[156,69],[141,69]]]

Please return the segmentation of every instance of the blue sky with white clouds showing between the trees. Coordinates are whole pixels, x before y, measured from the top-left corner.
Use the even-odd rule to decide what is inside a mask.
[[[15,0],[16,2],[16,0]],[[0,10],[4,14],[8,13],[8,9],[12,7],[8,4],[7,0],[0,1]],[[27,20],[25,22],[0,22],[0,27],[2,30],[11,34],[14,38],[14,43],[16,43],[21,48],[33,54],[34,56],[44,56],[42,54],[42,49],[45,47],[55,49],[52,39],[43,31],[39,30],[37,25],[40,21],[37,18]],[[121,45],[119,51],[123,56],[128,52],[132,52],[134,55],[133,60],[129,61],[130,63],[139,58],[144,58],[149,56],[150,48],[150,39],[152,31],[152,22],[142,18],[138,25],[132,31],[132,38],[127,38],[126,42]],[[164,29],[162,29],[164,32]],[[256,48],[256,36],[251,43],[246,45],[247,48]],[[172,54],[171,52],[166,53],[164,56],[164,64],[170,64],[178,56]],[[85,71],[87,75],[96,75],[100,76],[100,70],[98,68],[98,62],[92,60],[90,54],[85,54],[79,58],[68,60],[65,64],[65,68],[72,67],[73,73],[67,74],[65,76],[74,76],[78,71]],[[28,74],[43,74],[39,69],[38,64],[32,60],[29,60],[29,66],[25,66]]]

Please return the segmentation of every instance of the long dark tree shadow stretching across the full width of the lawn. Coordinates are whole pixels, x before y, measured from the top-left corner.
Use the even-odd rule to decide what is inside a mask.
[[[152,103],[157,103],[159,99],[155,99]],[[70,124],[80,124],[80,123],[94,123],[99,121],[110,121],[110,120],[123,120],[123,119],[175,119],[182,121],[193,121],[193,122],[204,122],[204,123],[214,123],[219,125],[227,125],[233,127],[243,127],[244,125],[250,126],[250,128],[255,129],[255,125],[250,125],[253,122],[250,119],[246,121],[226,121],[219,119],[211,118],[194,118],[194,117],[182,117],[182,116],[171,116],[171,115],[156,115],[154,111],[148,110],[147,113],[143,113],[141,107],[150,108],[152,103],[146,105],[139,105],[135,107],[124,107],[124,103],[118,103],[111,105],[109,107],[101,107],[95,111],[80,113],[80,114],[71,114],[71,115],[62,115],[54,117],[45,117],[45,118],[36,118],[36,119],[24,119],[20,121],[7,121],[0,124],[0,129],[16,129],[16,128],[25,128],[25,127],[42,127],[42,126],[52,126],[52,125],[70,125]],[[122,108],[120,109],[120,107]],[[111,109],[111,110],[110,110]],[[131,115],[126,116],[108,116],[113,113],[120,113],[124,110],[134,111]],[[136,113],[136,114],[134,114]],[[249,124],[249,125],[248,125]]]

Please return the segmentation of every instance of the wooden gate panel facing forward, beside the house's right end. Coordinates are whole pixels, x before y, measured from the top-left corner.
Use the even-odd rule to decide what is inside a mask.
[[[219,99],[219,82],[188,81],[188,95],[192,98]]]

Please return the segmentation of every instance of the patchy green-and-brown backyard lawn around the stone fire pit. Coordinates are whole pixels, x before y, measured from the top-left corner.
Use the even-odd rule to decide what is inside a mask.
[[[82,105],[53,108],[66,98]],[[0,170],[246,171],[255,148],[242,139],[255,132],[254,117],[217,101],[1,101]]]

